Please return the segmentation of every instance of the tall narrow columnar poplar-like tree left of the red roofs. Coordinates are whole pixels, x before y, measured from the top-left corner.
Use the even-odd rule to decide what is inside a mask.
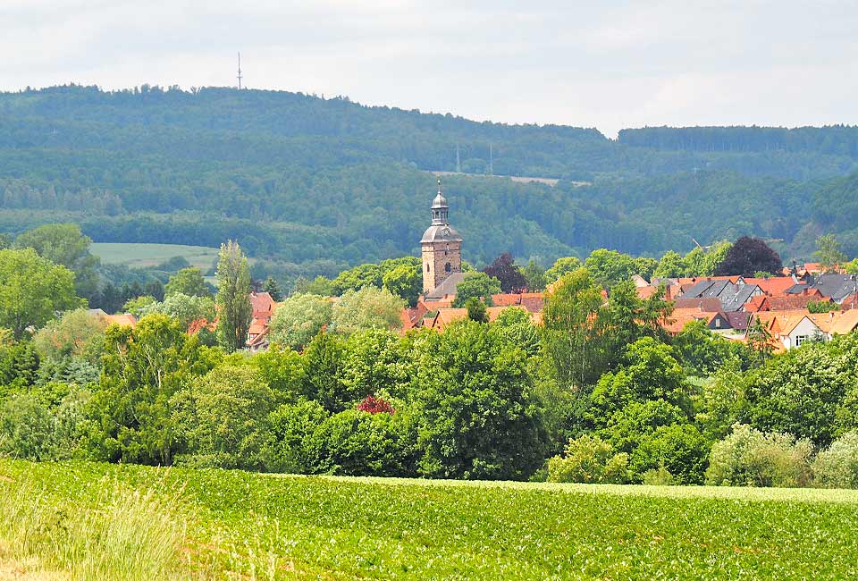
[[[250,268],[238,242],[221,245],[217,262],[217,331],[228,352],[243,349],[248,339],[253,306],[250,304]]]

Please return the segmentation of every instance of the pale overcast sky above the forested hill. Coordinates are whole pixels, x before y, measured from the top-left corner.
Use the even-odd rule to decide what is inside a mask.
[[[703,6],[706,7],[694,7]],[[0,0],[0,88],[234,85],[476,120],[858,123],[858,2]]]

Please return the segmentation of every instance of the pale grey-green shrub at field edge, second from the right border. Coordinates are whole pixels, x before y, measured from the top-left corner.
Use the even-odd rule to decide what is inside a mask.
[[[706,483],[727,486],[804,486],[811,480],[813,445],[790,434],[764,434],[736,424],[712,446]]]

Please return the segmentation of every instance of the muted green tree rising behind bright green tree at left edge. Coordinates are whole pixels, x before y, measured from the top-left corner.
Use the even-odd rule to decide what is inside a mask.
[[[80,297],[92,299],[98,291],[99,260],[89,253],[92,240],[80,232],[77,224],[46,224],[23,232],[15,239],[16,248],[33,248],[38,256],[74,272],[74,289]]]

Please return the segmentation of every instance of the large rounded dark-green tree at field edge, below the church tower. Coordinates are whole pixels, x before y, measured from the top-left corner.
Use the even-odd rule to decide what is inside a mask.
[[[425,476],[524,479],[542,464],[542,412],[520,349],[489,325],[428,333],[414,381]]]

